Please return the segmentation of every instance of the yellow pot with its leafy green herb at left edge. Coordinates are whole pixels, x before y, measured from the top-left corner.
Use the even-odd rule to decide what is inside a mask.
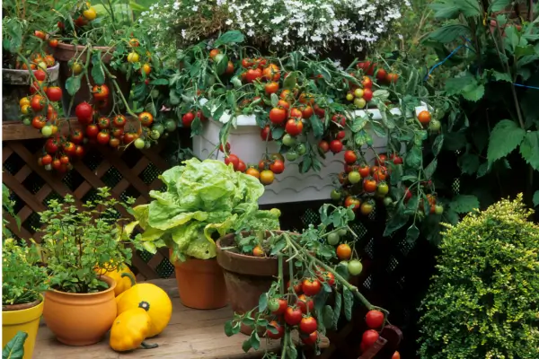
[[[13,238],[2,246],[2,346],[19,331],[26,332],[24,358],[31,358],[43,313],[43,295],[48,289],[47,271],[38,266],[35,243],[17,243]]]

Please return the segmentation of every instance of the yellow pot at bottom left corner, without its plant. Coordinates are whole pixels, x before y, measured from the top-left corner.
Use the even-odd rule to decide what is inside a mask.
[[[2,347],[19,331],[28,334],[24,342],[23,359],[31,359],[43,313],[43,297],[27,304],[2,306]]]

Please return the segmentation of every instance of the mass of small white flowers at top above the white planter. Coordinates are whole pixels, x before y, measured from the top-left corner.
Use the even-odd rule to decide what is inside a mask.
[[[218,31],[239,30],[257,48],[314,54],[331,48],[361,51],[401,17],[404,1],[237,1],[173,0],[152,5],[140,22],[152,22],[163,43],[181,31],[181,44],[208,39]],[[172,12],[171,12],[172,10]]]

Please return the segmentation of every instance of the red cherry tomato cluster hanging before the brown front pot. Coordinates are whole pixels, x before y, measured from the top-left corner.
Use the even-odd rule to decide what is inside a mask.
[[[318,322],[314,314],[313,298],[322,290],[323,283],[331,287],[335,285],[335,276],[331,272],[318,268],[315,277],[303,278],[301,281],[288,281],[285,297],[271,298],[268,310],[275,316],[270,321],[274,329],[266,331],[266,337],[280,339],[285,330],[297,328],[301,341],[313,346],[318,341]]]

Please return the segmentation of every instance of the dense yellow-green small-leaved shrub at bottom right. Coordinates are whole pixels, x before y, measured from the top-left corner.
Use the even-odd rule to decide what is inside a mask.
[[[420,357],[539,358],[539,226],[502,200],[446,225],[420,308]]]

